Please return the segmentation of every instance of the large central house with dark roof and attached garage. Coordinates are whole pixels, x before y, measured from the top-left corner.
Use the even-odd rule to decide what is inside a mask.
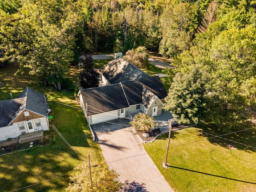
[[[100,69],[105,86],[78,92],[88,124],[97,124],[138,112],[148,116],[162,114],[166,90],[158,76],[151,77],[123,58]]]

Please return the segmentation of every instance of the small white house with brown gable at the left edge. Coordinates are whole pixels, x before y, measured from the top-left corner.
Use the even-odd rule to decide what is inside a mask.
[[[46,95],[26,87],[15,99],[0,101],[0,141],[49,130]]]

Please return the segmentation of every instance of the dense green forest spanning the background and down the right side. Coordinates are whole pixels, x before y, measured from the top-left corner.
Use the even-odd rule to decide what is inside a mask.
[[[81,54],[145,46],[172,59],[175,118],[240,129],[255,118],[255,10],[253,0],[2,0],[0,65],[60,90]]]

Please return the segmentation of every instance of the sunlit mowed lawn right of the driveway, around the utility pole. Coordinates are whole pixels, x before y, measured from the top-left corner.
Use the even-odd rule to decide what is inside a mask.
[[[216,129],[216,128],[215,128]],[[237,144],[214,135],[223,133],[204,124],[172,132],[167,163],[168,134],[144,144],[161,174],[175,192],[253,192],[256,191],[256,129],[228,134],[223,138],[253,146]],[[229,148],[232,144],[235,148]]]

